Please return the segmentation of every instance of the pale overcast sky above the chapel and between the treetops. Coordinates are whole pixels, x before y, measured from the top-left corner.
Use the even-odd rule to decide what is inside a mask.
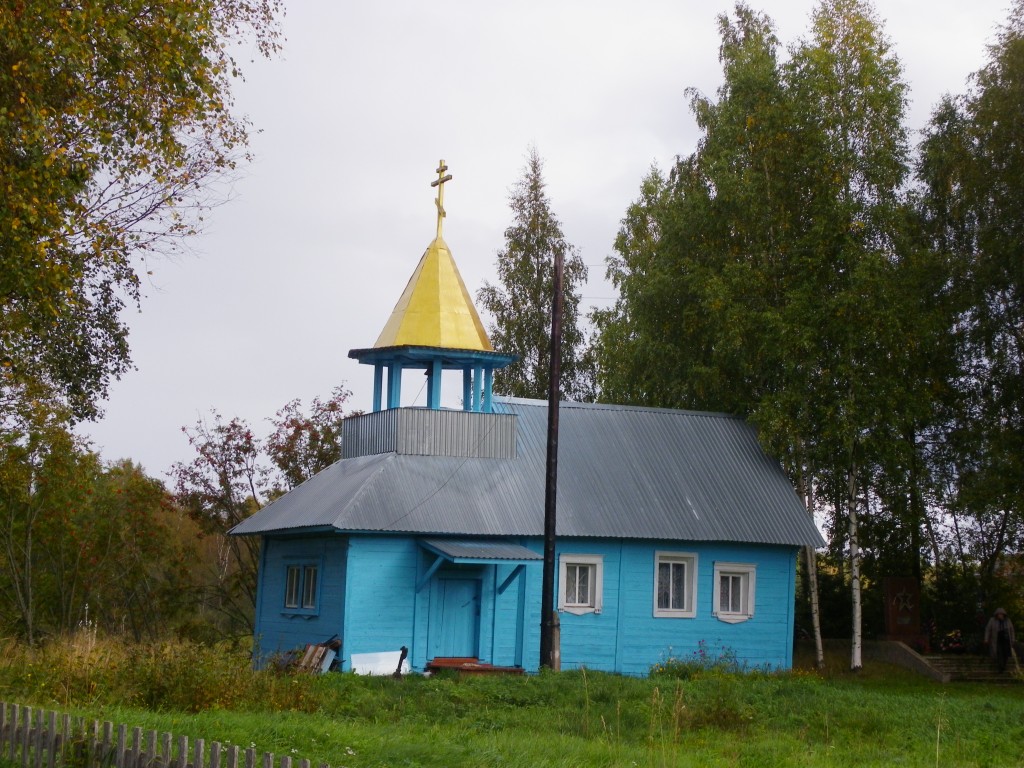
[[[756,0],[783,45],[812,0]],[[231,199],[189,252],[154,260],[129,316],[135,371],[84,425],[104,459],[163,477],[193,458],[181,427],[216,409],[257,433],[292,398],[344,383],[368,410],[371,346],[434,234],[470,292],[495,280],[509,188],[532,143],[552,207],[591,265],[587,306],[606,306],[604,259],[652,163],[693,151],[684,90],[721,80],[716,16],[727,2],[515,3],[292,0],[281,57],[250,63],[237,109],[261,132]],[[910,85],[907,123],[963,92],[1008,13],[1005,0],[878,0]],[[486,322],[486,321],[485,321]],[[418,393],[407,383],[403,395]],[[422,404],[423,394],[419,395]],[[453,403],[454,404],[454,403]]]

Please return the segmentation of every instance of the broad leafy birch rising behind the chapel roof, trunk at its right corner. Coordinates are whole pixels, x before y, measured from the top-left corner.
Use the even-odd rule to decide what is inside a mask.
[[[792,98],[767,16],[721,16],[717,98],[689,92],[697,151],[666,181],[652,171],[609,260],[620,299],[598,313],[601,387],[625,401],[754,418],[814,512],[807,331],[788,316],[798,265]],[[803,329],[803,330],[802,330]],[[815,650],[823,664],[816,552],[805,552]]]

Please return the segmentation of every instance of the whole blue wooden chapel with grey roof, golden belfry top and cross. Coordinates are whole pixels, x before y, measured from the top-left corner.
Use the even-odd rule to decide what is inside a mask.
[[[441,238],[377,343],[373,412],[346,420],[343,459],[231,532],[262,540],[257,658],[337,636],[353,654],[409,649],[536,671],[547,403],[496,397],[492,348]],[[402,373],[427,378],[401,407]],[[444,372],[461,410],[440,407]],[[559,406],[556,578],[562,668],[645,674],[705,648],[793,662],[796,560],[820,546],[777,462],[742,420],[604,403]]]

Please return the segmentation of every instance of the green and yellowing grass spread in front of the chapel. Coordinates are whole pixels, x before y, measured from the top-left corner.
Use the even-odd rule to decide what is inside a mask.
[[[77,637],[0,649],[0,697],[333,766],[1016,766],[1024,686],[862,674],[685,679],[254,672],[245,649]]]

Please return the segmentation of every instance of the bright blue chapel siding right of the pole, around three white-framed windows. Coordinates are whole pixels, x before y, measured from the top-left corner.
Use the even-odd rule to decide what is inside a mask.
[[[658,550],[696,554],[694,617],[654,616]],[[712,656],[728,650],[751,667],[787,669],[793,664],[795,548],[581,540],[560,543],[558,552],[604,556],[602,612],[560,614],[563,669],[585,666],[642,675],[670,655],[696,653],[701,644]],[[712,614],[716,561],[757,565],[752,618],[727,624]]]

